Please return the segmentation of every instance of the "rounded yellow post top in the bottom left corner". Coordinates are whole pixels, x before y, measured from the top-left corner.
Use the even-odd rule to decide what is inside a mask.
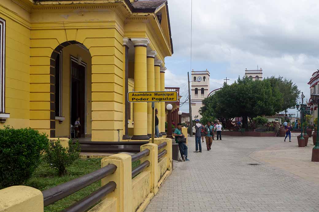
[[[1,212],[43,212],[43,195],[28,186],[11,186],[0,190]]]

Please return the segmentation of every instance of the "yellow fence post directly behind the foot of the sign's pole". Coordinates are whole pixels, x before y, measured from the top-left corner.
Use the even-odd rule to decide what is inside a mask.
[[[158,183],[158,171],[159,171],[158,160],[157,160],[158,146],[153,143],[148,143],[141,146],[141,151],[145,149],[149,149],[150,154],[141,158],[141,163],[147,160],[150,162],[150,166],[147,167],[145,170],[151,172],[151,179],[150,179],[151,193],[153,192],[154,195],[156,195],[158,192],[157,183]]]

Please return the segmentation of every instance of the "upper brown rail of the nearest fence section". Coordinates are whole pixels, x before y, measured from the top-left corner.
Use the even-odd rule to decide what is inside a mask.
[[[110,174],[113,174],[116,169],[117,167],[114,164],[108,164],[107,166],[82,177],[42,191],[44,206],[48,206],[59,201],[64,197],[67,197],[72,193],[75,193]]]

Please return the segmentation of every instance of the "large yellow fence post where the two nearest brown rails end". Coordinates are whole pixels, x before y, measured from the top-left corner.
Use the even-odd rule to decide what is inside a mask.
[[[120,153],[105,157],[101,160],[101,167],[113,163],[116,171],[101,180],[101,186],[110,181],[116,183],[114,192],[103,198],[117,199],[117,212],[132,212],[132,159],[130,155]]]

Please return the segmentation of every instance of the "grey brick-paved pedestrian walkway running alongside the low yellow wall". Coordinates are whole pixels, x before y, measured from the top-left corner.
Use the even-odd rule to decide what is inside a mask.
[[[277,137],[223,136],[222,141],[213,141],[211,151],[203,146],[203,153],[193,153],[194,137],[189,138],[191,161],[174,161],[172,174],[145,211],[319,211],[319,184],[289,172],[298,170],[300,158],[309,157],[308,150],[313,147],[309,142],[309,147],[301,150],[296,143]],[[296,166],[283,170],[289,157],[278,156],[277,162],[269,159],[277,149],[287,154],[275,156],[298,155],[299,159],[293,162]],[[291,151],[304,153],[289,154]],[[279,160],[284,162],[278,163]],[[319,175],[318,165],[307,160],[300,166],[315,164],[314,174]]]

